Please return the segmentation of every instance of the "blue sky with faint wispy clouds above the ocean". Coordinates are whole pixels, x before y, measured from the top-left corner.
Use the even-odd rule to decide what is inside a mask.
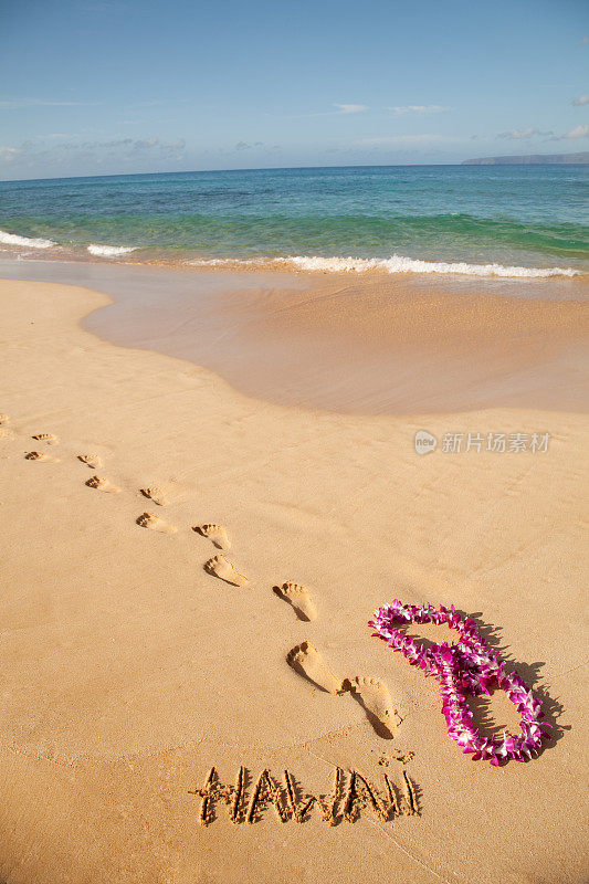
[[[581,0],[0,0],[0,179],[580,150]]]

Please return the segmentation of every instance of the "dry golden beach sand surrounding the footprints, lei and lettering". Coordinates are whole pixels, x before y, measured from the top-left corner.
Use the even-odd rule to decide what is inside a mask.
[[[586,418],[270,404],[78,326],[107,303],[0,283],[0,880],[583,882]],[[546,328],[550,311],[524,315]],[[577,311],[559,305],[576,352]],[[535,454],[419,456],[419,429],[551,438]],[[248,583],[206,570],[214,556]],[[285,582],[307,589],[313,619],[273,591]],[[478,620],[545,698],[554,739],[538,759],[497,769],[460,753],[434,680],[370,638],[393,598]],[[358,690],[338,693],[344,680]],[[503,695],[477,706],[485,733],[515,727]],[[225,783],[245,767],[248,800],[266,768],[291,771],[297,794],[329,792],[338,766],[402,793],[404,770],[419,814],[365,808],[329,825],[270,807],[234,824],[218,803],[202,825],[193,792],[212,766]]]

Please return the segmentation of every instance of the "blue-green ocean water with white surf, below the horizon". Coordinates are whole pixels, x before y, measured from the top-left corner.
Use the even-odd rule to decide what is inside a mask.
[[[585,274],[588,185],[589,166],[346,167],[0,182],[0,259]]]

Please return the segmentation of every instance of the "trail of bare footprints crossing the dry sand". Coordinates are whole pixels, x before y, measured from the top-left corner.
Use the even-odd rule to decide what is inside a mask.
[[[0,440],[9,439],[13,435],[12,430],[8,427],[9,423],[9,415],[0,414]],[[60,441],[56,435],[46,432],[36,433],[31,438],[46,445],[56,445]],[[24,456],[29,461],[60,462],[59,457],[48,451],[30,451]],[[98,454],[78,454],[77,460],[91,470],[99,470],[103,466],[102,457]],[[90,488],[111,494],[118,494],[122,491],[105,476],[96,474],[86,480],[85,484]],[[156,486],[139,488],[139,492],[157,506],[165,507],[169,503],[165,492]],[[169,524],[156,513],[143,513],[136,519],[136,524],[141,528],[148,528],[160,534],[176,534],[178,530],[175,525]],[[192,530],[210,540],[217,549],[223,552],[231,548],[228,532],[222,525],[212,523],[196,525]],[[249,578],[240,573],[224,555],[213,556],[204,562],[203,567],[208,573],[225,583],[235,587],[251,586]],[[306,587],[287,581],[281,586],[273,587],[273,591],[280,599],[291,606],[298,620],[311,623],[317,618],[317,608]],[[367,719],[380,737],[391,739],[395,736],[401,719],[392,703],[389,688],[383,681],[362,676],[354,678],[338,677],[332,672],[322,653],[309,641],[304,641],[288,651],[286,662],[301,677],[311,682],[320,691],[333,696],[349,694],[361,706]]]

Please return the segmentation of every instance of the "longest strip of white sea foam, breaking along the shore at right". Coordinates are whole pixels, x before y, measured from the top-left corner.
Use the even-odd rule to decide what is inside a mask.
[[[290,255],[273,259],[245,259],[239,261],[231,257],[213,257],[190,261],[199,266],[219,266],[222,264],[282,264],[294,266],[298,270],[322,271],[324,273],[366,273],[368,271],[382,271],[385,273],[455,273],[466,276],[504,276],[504,277],[535,277],[546,276],[577,276],[579,271],[572,267],[518,267],[504,266],[503,264],[467,264],[445,261],[421,261],[403,255],[392,257],[319,257],[305,255]]]

